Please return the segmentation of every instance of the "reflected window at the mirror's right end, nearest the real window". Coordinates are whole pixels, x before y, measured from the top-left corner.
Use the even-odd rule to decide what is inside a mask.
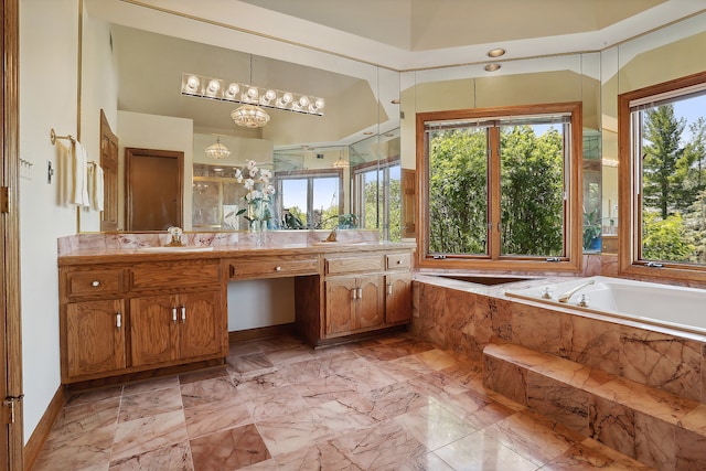
[[[377,228],[381,240],[402,239],[402,167],[399,158],[353,169],[355,206],[360,226]]]

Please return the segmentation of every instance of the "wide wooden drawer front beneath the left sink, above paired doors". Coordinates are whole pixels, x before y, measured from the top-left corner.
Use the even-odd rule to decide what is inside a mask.
[[[218,260],[149,263],[131,268],[135,290],[211,286],[220,282]]]

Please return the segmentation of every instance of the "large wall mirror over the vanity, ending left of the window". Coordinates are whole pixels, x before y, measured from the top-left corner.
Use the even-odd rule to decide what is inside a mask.
[[[81,140],[98,161],[103,110],[119,140],[118,231],[128,229],[124,156],[131,148],[184,153],[185,229],[247,228],[244,215],[235,217],[246,193],[235,172],[253,160],[272,174],[270,229],[376,228],[399,238],[399,73],[342,57],[324,69],[310,65],[317,61],[306,50],[287,61],[246,44],[226,47],[236,42],[223,31],[211,40],[199,23],[189,36],[164,22],[126,25],[105,7],[84,1]],[[239,105],[182,95],[184,73],[322,97],[323,116],[266,109],[266,126],[239,127],[231,118]],[[231,153],[206,156],[216,142]],[[79,232],[100,226],[100,213],[81,211]]]

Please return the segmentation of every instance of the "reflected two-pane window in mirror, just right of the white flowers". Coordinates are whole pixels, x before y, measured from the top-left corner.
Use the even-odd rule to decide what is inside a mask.
[[[304,170],[275,174],[284,229],[332,229],[343,214],[343,172]]]

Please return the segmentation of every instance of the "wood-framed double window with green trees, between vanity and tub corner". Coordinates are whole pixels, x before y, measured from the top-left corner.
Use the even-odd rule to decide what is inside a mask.
[[[579,269],[580,109],[417,115],[419,265]]]

